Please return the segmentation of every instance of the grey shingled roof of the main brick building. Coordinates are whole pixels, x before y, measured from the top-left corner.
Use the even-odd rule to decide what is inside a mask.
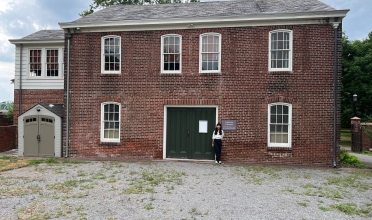
[[[71,23],[79,24],[120,20],[241,16],[335,10],[335,8],[318,0],[237,0],[186,4],[115,5],[79,18]]]

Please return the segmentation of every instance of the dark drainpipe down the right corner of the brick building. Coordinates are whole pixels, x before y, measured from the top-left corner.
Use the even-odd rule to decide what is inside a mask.
[[[334,105],[334,110],[333,110],[333,167],[337,168],[337,64],[338,64],[338,59],[337,59],[337,32],[338,32],[338,26],[339,22],[337,22],[338,18],[335,18],[335,22],[333,23],[333,28],[334,28],[334,75],[333,75],[333,105]]]

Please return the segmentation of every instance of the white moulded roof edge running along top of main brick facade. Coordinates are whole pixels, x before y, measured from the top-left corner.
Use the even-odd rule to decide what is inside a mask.
[[[59,22],[62,29],[67,28],[99,28],[118,26],[146,26],[164,24],[190,24],[190,23],[220,23],[220,22],[242,22],[242,21],[267,21],[267,20],[297,20],[297,19],[319,19],[319,18],[344,18],[350,10],[333,10],[318,12],[278,13],[278,14],[250,14],[238,16],[216,16],[216,17],[194,17],[194,18],[165,18],[144,20],[117,20],[103,22]]]

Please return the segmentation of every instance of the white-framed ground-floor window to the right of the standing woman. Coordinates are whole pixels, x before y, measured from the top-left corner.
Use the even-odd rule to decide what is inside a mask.
[[[292,105],[271,103],[268,105],[268,146],[291,147]]]

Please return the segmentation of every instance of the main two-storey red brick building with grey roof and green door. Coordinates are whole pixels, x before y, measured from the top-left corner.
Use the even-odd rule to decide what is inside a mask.
[[[64,154],[213,160],[222,121],[224,162],[336,165],[347,12],[243,0],[112,6],[60,23]]]

